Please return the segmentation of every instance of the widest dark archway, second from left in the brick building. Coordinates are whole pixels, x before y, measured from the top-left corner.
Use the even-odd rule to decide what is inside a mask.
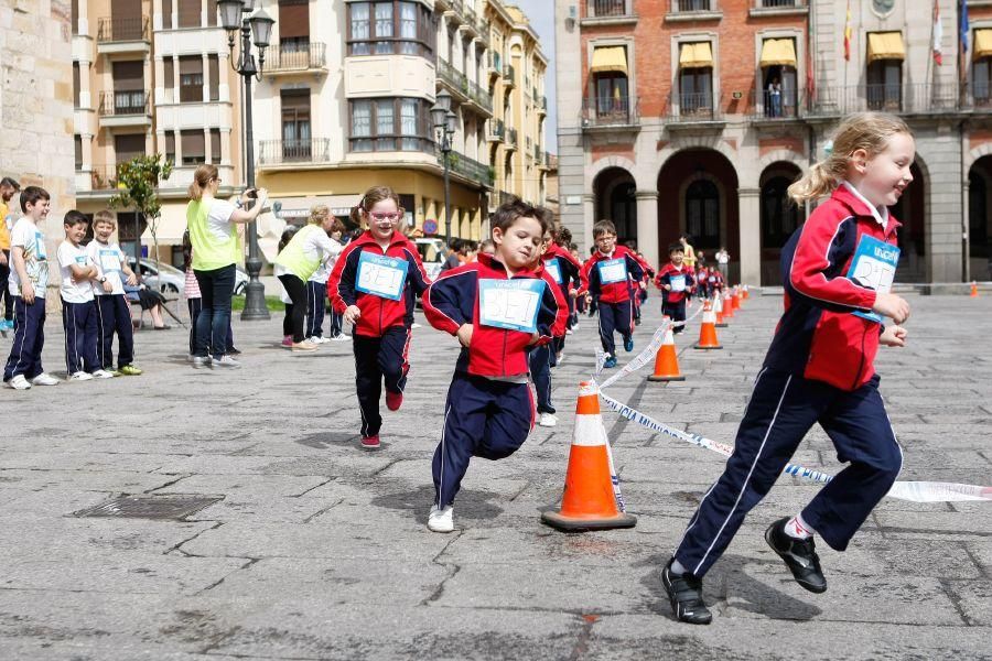
[[[687,149],[669,158],[658,173],[658,256],[688,234],[697,253],[714,254],[725,246],[732,256],[731,278],[740,277],[737,173],[712,149]]]

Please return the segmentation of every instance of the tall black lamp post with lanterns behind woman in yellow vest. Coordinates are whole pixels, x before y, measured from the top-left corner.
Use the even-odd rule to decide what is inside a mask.
[[[255,136],[251,127],[251,80],[261,80],[261,71],[266,63],[266,48],[276,22],[265,11],[255,11],[256,0],[219,0],[220,24],[227,31],[227,47],[230,50],[230,66],[245,82],[245,183],[255,187]],[[240,52],[237,63],[234,58],[236,31],[241,31]],[[258,64],[251,52],[252,35],[258,48]],[[252,204],[258,204],[257,202]],[[248,271],[248,284],[245,286],[245,310],[242,321],[268,319],[269,307],[266,305],[266,288],[259,281],[261,257],[258,250],[258,224],[252,220],[246,229],[248,234],[248,259],[245,268]]]

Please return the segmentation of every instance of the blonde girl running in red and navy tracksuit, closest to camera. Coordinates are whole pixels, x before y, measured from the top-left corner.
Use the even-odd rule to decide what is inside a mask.
[[[827,589],[812,535],[843,551],[895,483],[903,453],[873,362],[880,344],[904,346],[906,338],[897,324],[909,316],[909,304],[888,293],[898,263],[899,224],[887,207],[913,181],[914,156],[902,119],[858,113],[838,129],[827,161],[790,186],[800,205],[832,195],[783,248],[785,313],[755,379],[733,455],[662,571],[679,620],[710,622],[702,576],[813,424],[823,427],[848,466],[801,512],[765,531],[800,586]],[[883,326],[883,316],[896,325]]]

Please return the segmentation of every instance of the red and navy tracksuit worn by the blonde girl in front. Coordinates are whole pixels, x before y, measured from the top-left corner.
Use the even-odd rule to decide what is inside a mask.
[[[690,573],[702,576],[716,562],[813,424],[848,464],[802,510],[804,521],[832,549],[847,549],[892,488],[903,454],[873,367],[881,327],[853,314],[871,310],[875,292],[847,274],[859,241],[873,237],[895,246],[898,227],[892,217],[883,227],[867,202],[842,184],[786,243],[785,314],[734,453],[675,554]]]

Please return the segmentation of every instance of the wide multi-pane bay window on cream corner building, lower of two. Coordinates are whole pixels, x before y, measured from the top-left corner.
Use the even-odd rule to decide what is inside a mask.
[[[351,101],[353,152],[422,151],[431,153],[430,106],[423,99]]]

